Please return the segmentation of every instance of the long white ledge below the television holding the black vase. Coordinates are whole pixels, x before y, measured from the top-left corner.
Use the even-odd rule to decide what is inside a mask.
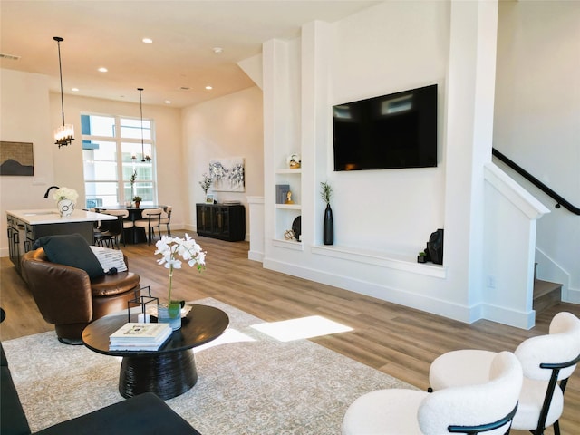
[[[343,260],[356,261],[373,266],[389,267],[414,274],[428,275],[436,278],[447,277],[445,266],[433,263],[417,263],[417,256],[402,256],[384,251],[372,251],[359,247],[342,247],[336,245],[316,245],[312,253],[319,256],[332,256]]]

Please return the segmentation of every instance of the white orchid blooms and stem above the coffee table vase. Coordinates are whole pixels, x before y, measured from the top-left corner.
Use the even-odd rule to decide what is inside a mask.
[[[206,268],[206,252],[203,251],[196,241],[189,237],[189,234],[187,233],[185,239],[180,237],[163,236],[160,241],[155,244],[155,247],[157,247],[155,255],[161,256],[157,261],[158,264],[169,269],[169,308],[171,308],[171,305],[178,305],[179,309],[180,303],[171,299],[173,270],[180,269],[182,264],[179,256],[183,258],[183,261],[188,263],[189,267],[196,266],[198,267],[198,271],[201,272]]]

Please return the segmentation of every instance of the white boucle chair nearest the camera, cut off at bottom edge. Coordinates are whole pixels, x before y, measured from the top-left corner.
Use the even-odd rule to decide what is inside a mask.
[[[488,380],[429,393],[407,389],[372,391],[344,414],[343,435],[505,434],[523,381],[513,353],[498,353]]]

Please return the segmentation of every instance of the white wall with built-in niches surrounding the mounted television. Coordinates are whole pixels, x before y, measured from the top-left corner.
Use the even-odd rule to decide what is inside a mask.
[[[483,173],[491,159],[497,16],[494,2],[384,2],[336,24],[304,24],[298,56],[294,41],[264,45],[266,267],[466,322],[497,319],[498,310],[486,305],[512,296],[491,301],[484,283]],[[438,168],[333,172],[333,104],[434,82]],[[285,134],[296,109],[300,125]],[[279,179],[286,138],[298,134],[303,237],[292,245],[277,240],[284,217],[267,187]],[[322,246],[318,229],[322,180],[334,189],[331,247]],[[446,231],[444,265],[417,265],[439,227]],[[527,275],[527,264],[520,268],[514,273]],[[516,304],[498,320],[529,327],[527,287],[508,292],[523,296],[511,298]]]

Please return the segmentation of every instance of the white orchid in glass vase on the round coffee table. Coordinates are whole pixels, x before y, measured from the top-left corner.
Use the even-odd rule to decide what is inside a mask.
[[[185,234],[185,239],[163,236],[155,244],[155,247],[157,247],[155,255],[161,255],[160,260],[157,261],[158,264],[169,269],[168,302],[160,304],[158,307],[158,318],[160,322],[165,320],[171,324],[173,330],[177,330],[181,327],[181,308],[184,301],[174,301],[171,296],[173,270],[181,268],[181,260],[179,259],[179,256],[181,256],[189,267],[196,266],[198,271],[201,272],[206,268],[206,252],[187,233]]]

